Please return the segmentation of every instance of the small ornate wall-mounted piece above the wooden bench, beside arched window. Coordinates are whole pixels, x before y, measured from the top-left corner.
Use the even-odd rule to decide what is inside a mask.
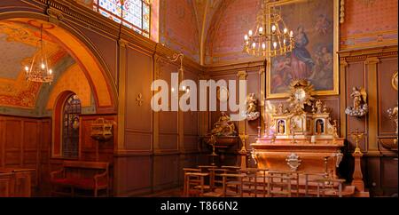
[[[114,122],[111,120],[96,119],[94,123],[91,123],[91,138],[99,141],[111,139],[113,137],[113,124]]]

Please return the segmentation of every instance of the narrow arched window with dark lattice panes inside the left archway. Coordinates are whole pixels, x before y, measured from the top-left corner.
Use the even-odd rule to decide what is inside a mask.
[[[79,156],[79,115],[81,100],[73,94],[69,96],[62,108],[62,155],[66,158]]]

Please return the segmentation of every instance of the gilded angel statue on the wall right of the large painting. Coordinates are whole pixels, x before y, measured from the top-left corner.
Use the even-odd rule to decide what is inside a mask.
[[[351,116],[363,116],[366,115],[369,111],[369,107],[367,106],[367,92],[365,92],[364,88],[354,87],[353,92],[350,94],[350,97],[353,98],[353,107],[348,107],[345,109],[345,114]]]

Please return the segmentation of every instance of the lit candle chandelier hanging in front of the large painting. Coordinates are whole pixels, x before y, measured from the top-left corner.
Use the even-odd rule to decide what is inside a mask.
[[[267,11],[268,0],[264,0],[262,10],[256,17],[256,29],[250,29],[244,36],[244,51],[255,57],[272,58],[286,55],[293,50],[293,31],[286,28],[277,8]]]

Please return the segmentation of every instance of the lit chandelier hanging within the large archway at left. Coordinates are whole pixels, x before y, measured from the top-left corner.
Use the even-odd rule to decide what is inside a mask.
[[[37,44],[37,52],[30,64],[30,67],[25,67],[26,80],[39,83],[51,83],[53,81],[53,74],[47,62],[47,55],[44,49],[43,42],[43,24],[40,28],[40,40]]]

